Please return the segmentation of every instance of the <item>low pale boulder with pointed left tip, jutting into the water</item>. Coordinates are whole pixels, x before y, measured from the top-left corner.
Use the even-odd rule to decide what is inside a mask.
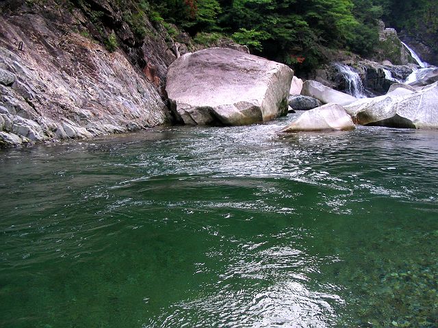
[[[298,120],[289,124],[280,132],[298,131],[348,131],[355,124],[341,105],[327,104],[305,111]]]

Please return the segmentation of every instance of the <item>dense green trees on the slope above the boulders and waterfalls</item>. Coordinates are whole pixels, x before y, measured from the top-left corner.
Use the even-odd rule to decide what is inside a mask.
[[[420,27],[436,33],[438,27],[435,0],[149,0],[149,4],[166,22],[192,36],[229,36],[253,53],[304,69],[323,61],[324,49],[366,57],[378,42],[380,19],[412,33]]]

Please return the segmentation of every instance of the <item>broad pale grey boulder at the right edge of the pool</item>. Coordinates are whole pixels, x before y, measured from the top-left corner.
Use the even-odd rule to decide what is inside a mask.
[[[357,124],[438,128],[438,82],[410,94],[357,100],[345,109]]]

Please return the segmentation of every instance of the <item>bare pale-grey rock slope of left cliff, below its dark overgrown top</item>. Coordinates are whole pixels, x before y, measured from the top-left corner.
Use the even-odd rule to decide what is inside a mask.
[[[53,24],[56,18],[47,19],[38,12],[31,20],[27,13],[14,19],[0,14],[1,146],[88,138],[168,121],[157,79],[146,77],[123,51],[109,53],[73,31],[64,46],[52,46],[60,27]],[[24,51],[9,47],[18,39]]]

